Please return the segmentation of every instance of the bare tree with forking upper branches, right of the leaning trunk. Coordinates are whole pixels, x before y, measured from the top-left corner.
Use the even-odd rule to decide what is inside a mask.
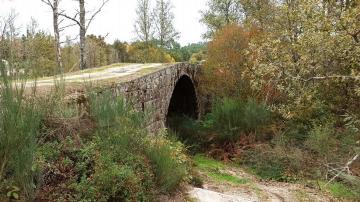
[[[86,69],[86,33],[90,27],[90,24],[93,22],[94,18],[101,12],[103,7],[106,5],[109,0],[102,0],[100,7],[91,15],[89,19],[86,19],[86,9],[85,9],[85,0],[76,0],[79,2],[79,10],[77,10],[74,17],[61,12],[60,15],[65,18],[75,22],[79,27],[79,36],[80,36],[80,69]]]

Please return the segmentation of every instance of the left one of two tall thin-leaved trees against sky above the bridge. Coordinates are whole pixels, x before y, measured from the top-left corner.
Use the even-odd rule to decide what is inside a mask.
[[[137,19],[135,21],[135,31],[138,39],[149,44],[154,35],[153,18],[150,11],[149,0],[137,0]]]

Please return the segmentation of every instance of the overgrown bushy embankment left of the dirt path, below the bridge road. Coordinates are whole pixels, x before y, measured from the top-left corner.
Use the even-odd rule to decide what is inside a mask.
[[[90,89],[77,105],[61,84],[25,96],[1,75],[0,201],[154,201],[190,179],[184,146],[121,97]]]

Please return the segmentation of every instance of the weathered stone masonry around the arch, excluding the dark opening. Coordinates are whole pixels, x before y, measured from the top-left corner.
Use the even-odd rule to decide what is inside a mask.
[[[116,94],[125,95],[138,110],[149,110],[151,120],[148,127],[154,132],[165,126],[170,99],[179,78],[188,76],[197,91],[198,70],[199,66],[187,63],[169,65],[158,72],[117,84]]]

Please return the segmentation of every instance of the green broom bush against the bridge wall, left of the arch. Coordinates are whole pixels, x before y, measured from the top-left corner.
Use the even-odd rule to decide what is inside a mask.
[[[187,180],[188,158],[180,142],[161,134],[149,137],[145,115],[111,92],[89,97],[98,128],[92,155],[80,155],[88,163],[77,166],[81,181],[72,185],[77,200],[149,201]]]

